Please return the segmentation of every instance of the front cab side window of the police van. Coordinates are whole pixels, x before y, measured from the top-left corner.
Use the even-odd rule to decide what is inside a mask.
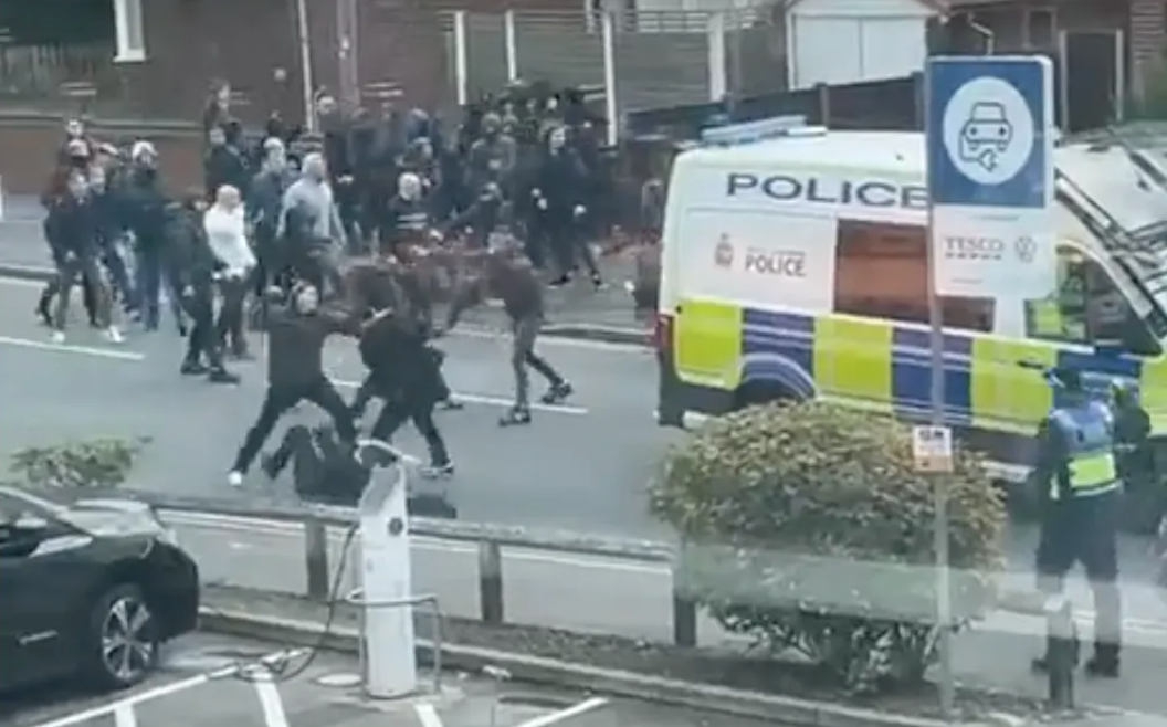
[[[1081,345],[1110,343],[1142,356],[1160,350],[1103,266],[1068,245],[1057,249],[1057,291],[1026,301],[1025,313],[1026,333],[1034,338]]]

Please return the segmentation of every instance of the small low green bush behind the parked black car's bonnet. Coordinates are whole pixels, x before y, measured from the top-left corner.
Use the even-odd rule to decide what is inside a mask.
[[[93,439],[53,447],[28,447],[11,469],[33,487],[111,488],[126,481],[147,439]]]

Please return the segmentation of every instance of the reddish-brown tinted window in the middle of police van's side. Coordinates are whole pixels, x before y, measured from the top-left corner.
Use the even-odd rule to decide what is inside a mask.
[[[928,232],[916,225],[839,221],[834,266],[838,313],[928,323]],[[993,329],[993,301],[944,298],[944,326]]]

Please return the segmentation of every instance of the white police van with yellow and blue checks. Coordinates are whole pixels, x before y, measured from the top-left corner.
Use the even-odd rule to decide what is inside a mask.
[[[923,420],[930,411],[924,139],[789,119],[710,130],[677,156],[663,229],[659,422],[820,397]],[[944,419],[1023,482],[1070,365],[1105,394],[1140,390],[1167,436],[1167,175],[1126,145],[1063,144],[1057,291],[945,298]],[[1162,159],[1167,159],[1163,156]],[[1032,256],[1032,240],[945,240]],[[1149,517],[1149,516],[1148,516]]]

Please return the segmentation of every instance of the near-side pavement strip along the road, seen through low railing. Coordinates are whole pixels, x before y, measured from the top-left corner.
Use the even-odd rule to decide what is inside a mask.
[[[189,512],[162,516],[174,527],[179,543],[198,561],[207,583],[296,596],[306,593],[303,541],[296,526]],[[344,567],[338,581],[338,593],[344,594],[355,585],[351,562],[342,557],[343,533],[335,530],[329,534],[329,564],[334,578],[335,568]],[[415,538],[412,573],[413,592],[436,595],[446,616],[480,617],[477,550],[473,545]],[[1016,574],[1008,585],[1021,587],[1027,578]],[[508,623],[669,643],[671,585],[665,566],[524,548],[505,548],[503,553]],[[1090,603],[1084,583],[1071,581],[1069,593],[1075,603]],[[1167,694],[1161,686],[1167,663],[1167,607],[1154,590],[1135,582],[1124,583],[1124,679],[1082,679],[1079,699],[1167,714]],[[1078,614],[1088,641],[1091,618],[1086,610]],[[1041,652],[1043,635],[1044,621],[1040,617],[991,614],[958,635],[953,650],[957,678],[969,685],[1041,698],[1046,684],[1029,672],[1028,664]],[[698,616],[698,643],[733,651],[747,645],[704,614]]]

